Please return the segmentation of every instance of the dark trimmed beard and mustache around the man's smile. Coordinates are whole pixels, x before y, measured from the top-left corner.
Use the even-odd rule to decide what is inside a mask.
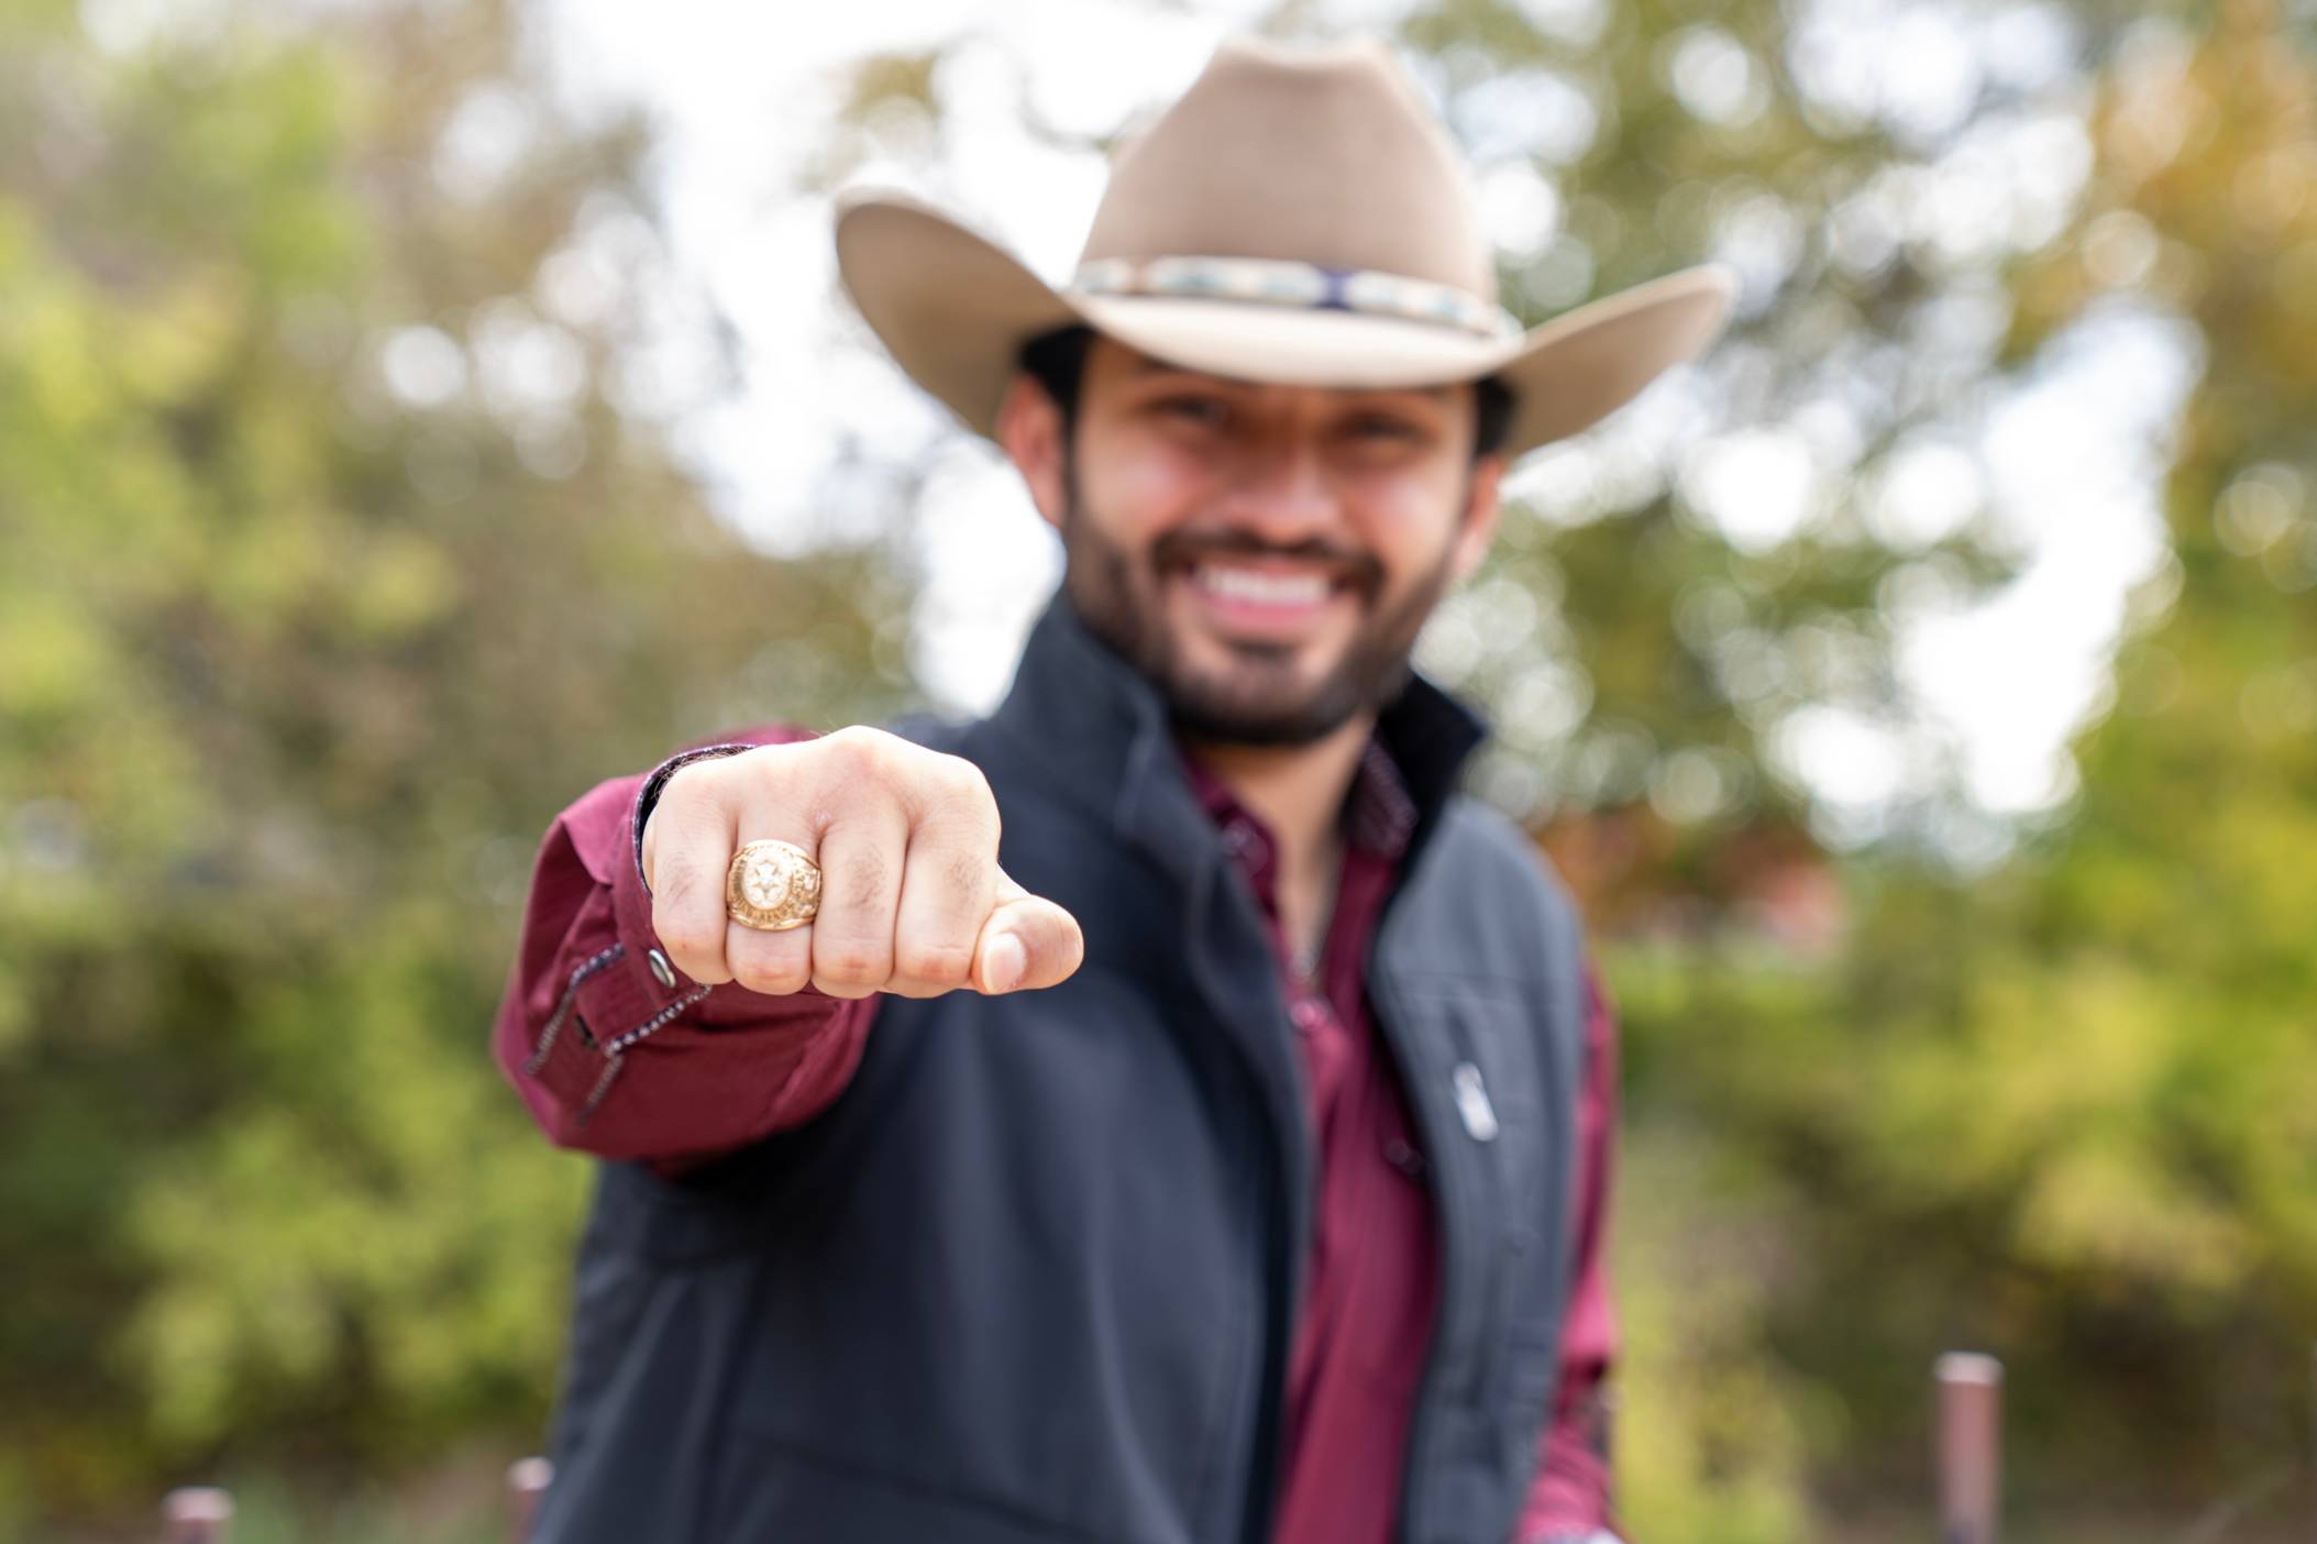
[[[1298,746],[1321,740],[1355,714],[1376,714],[1409,684],[1409,651],[1450,582],[1455,538],[1441,547],[1406,593],[1383,600],[1383,566],[1374,556],[1318,540],[1267,545],[1244,531],[1191,536],[1170,531],[1147,554],[1105,538],[1087,517],[1077,468],[1064,459],[1064,591],[1087,631],[1140,670],[1168,707],[1175,730],[1191,740]],[[1295,644],[1230,640],[1223,670],[1184,658],[1165,614],[1165,584],[1200,556],[1279,556],[1325,561],[1348,575],[1348,591],[1365,619],[1344,656],[1307,682]]]

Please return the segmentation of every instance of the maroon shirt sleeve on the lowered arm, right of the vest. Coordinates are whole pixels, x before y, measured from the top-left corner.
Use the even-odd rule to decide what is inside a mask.
[[[1515,1544],[1615,1544],[1610,1507],[1610,1365],[1617,1317],[1601,1261],[1608,1233],[1610,1148],[1617,1134],[1617,1020],[1599,969],[1585,964],[1585,1094],[1578,1108],[1576,1282],[1562,1321],[1562,1377]]]

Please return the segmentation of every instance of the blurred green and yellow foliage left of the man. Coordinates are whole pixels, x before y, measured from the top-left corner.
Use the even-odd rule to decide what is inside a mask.
[[[890,563],[751,559],[672,454],[642,130],[491,0],[264,12],[0,5],[19,1516],[533,1442],[586,1168],[484,1039],[538,835],[906,695]]]

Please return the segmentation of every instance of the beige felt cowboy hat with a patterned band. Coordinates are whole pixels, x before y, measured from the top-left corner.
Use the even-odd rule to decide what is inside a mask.
[[[1022,343],[1091,325],[1214,376],[1323,387],[1499,378],[1506,450],[1576,434],[1722,329],[1719,264],[1522,332],[1497,304],[1471,174],[1376,42],[1226,42],[1119,151],[1061,290],[890,190],[836,202],[846,290],[918,385],[992,434]]]

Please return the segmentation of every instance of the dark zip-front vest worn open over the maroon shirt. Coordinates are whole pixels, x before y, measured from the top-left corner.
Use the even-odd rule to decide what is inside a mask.
[[[887,997],[820,1117],[681,1182],[600,1164],[538,1544],[1270,1537],[1314,1150],[1256,900],[1061,598],[994,716],[904,733],[982,767],[1087,962]],[[1367,981],[1443,1247],[1395,1537],[1504,1544],[1571,1270],[1578,927],[1455,793],[1467,709],[1418,677],[1381,733],[1420,818]]]

